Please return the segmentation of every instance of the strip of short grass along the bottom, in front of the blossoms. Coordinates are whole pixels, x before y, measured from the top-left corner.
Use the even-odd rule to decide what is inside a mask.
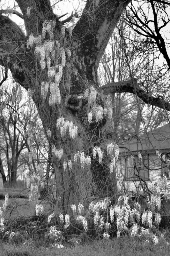
[[[39,248],[0,244],[0,255],[2,256],[168,256],[170,246],[159,243],[158,245],[145,244],[139,238],[127,236],[115,238],[109,241],[94,241],[90,244],[77,245],[75,247],[48,249],[43,246]]]

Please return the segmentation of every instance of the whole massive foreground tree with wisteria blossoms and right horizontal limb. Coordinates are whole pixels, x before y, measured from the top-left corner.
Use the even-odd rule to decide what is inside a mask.
[[[9,9],[1,10],[0,64],[32,94],[50,145],[57,202],[67,212],[70,203],[91,195],[117,197],[112,166],[118,147],[112,122],[103,115],[103,93],[131,92],[170,110],[169,103],[148,95],[133,77],[99,86],[100,59],[129,0],[87,0],[73,29],[65,25],[73,15],[60,21],[49,0],[17,3],[20,12],[12,13],[24,20],[26,35],[3,15]]]

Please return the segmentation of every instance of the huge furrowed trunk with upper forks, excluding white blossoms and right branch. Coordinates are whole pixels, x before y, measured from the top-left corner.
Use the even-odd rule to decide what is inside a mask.
[[[0,63],[10,68],[14,79],[33,93],[33,101],[51,149],[58,204],[67,212],[69,204],[92,196],[117,197],[116,174],[115,171],[110,174],[110,159],[106,154],[107,144],[114,140],[112,123],[104,116],[102,120],[93,120],[93,123],[89,124],[88,113],[94,104],[104,107],[104,98],[97,78],[99,61],[129,0],[87,0],[72,36],[68,29],[63,35],[63,25],[52,12],[49,1],[17,2],[23,13],[27,37],[8,17],[0,15]],[[29,6],[32,9],[30,15],[27,15],[26,10]],[[45,20],[55,21],[54,42],[57,40],[65,52],[71,51],[71,57],[66,55],[64,66],[55,43],[55,59],[52,60],[51,66],[62,63],[63,72],[59,84],[61,103],[53,105],[49,104],[49,91],[45,100],[41,94],[41,83],[49,82],[48,68],[42,70],[39,64],[40,57],[34,52],[34,46],[26,47],[26,40],[31,33],[34,37],[42,34],[42,24]],[[44,40],[51,40],[48,33]],[[84,96],[85,90],[88,89],[90,92],[92,88],[97,92],[95,102],[89,102]],[[56,124],[57,119],[62,116],[78,127],[76,138],[70,138],[69,132],[63,137],[60,135],[60,129],[56,128]],[[56,149],[63,148],[61,160],[52,153],[53,146]],[[104,152],[101,163],[98,156],[93,159],[92,149],[95,146],[99,146]],[[91,157],[90,167],[85,165],[81,168],[79,162],[74,162],[74,155],[78,151]],[[67,168],[65,171],[63,163],[69,160],[72,161],[72,169]]]

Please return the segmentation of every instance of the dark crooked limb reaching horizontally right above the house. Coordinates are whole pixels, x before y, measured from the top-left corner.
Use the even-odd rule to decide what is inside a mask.
[[[137,95],[141,100],[143,100],[146,104],[156,106],[159,108],[166,109],[170,111],[170,103],[164,101],[162,96],[153,97],[149,93],[145,92],[142,88],[137,84],[137,79],[117,82],[117,83],[108,83],[101,87],[103,94],[116,93],[116,92],[129,92]]]

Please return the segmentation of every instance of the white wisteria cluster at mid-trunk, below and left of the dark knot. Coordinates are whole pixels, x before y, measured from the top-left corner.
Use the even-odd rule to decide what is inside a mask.
[[[73,122],[65,121],[64,117],[57,119],[56,124],[57,129],[60,129],[60,134],[63,137],[67,131],[69,131],[70,138],[74,139],[78,133],[78,127],[73,124]]]

